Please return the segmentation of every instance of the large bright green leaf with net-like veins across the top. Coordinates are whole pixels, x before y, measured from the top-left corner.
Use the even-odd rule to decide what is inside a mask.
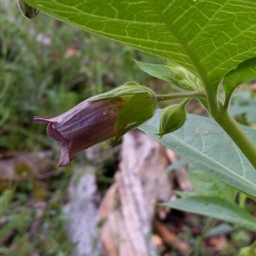
[[[206,83],[256,56],[255,0],[26,0],[58,19],[169,59]]]

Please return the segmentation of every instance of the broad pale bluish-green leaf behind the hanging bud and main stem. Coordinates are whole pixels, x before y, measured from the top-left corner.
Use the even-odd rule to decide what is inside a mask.
[[[155,139],[159,129],[161,110],[141,129]],[[256,130],[241,126],[256,144]],[[183,127],[160,140],[189,163],[209,175],[256,197],[256,170],[222,128],[211,118],[187,115]]]

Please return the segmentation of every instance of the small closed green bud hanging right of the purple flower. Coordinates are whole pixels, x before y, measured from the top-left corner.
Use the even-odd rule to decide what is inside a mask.
[[[186,121],[185,106],[188,101],[189,100],[185,100],[181,104],[172,105],[163,109],[160,118],[159,133],[156,134],[160,136],[160,139],[164,134],[169,134],[183,126]]]

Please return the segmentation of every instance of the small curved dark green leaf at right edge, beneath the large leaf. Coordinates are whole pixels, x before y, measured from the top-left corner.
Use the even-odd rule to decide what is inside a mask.
[[[256,58],[246,60],[239,64],[236,69],[231,70],[224,77],[222,85],[226,101],[239,85],[256,78]]]

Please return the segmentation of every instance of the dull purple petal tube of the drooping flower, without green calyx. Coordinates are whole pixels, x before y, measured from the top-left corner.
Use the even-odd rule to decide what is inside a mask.
[[[66,166],[81,150],[117,136],[122,131],[124,127],[114,129],[114,125],[126,102],[123,97],[98,101],[87,99],[60,116],[35,116],[34,119],[49,123],[48,135],[61,142],[58,166]]]

